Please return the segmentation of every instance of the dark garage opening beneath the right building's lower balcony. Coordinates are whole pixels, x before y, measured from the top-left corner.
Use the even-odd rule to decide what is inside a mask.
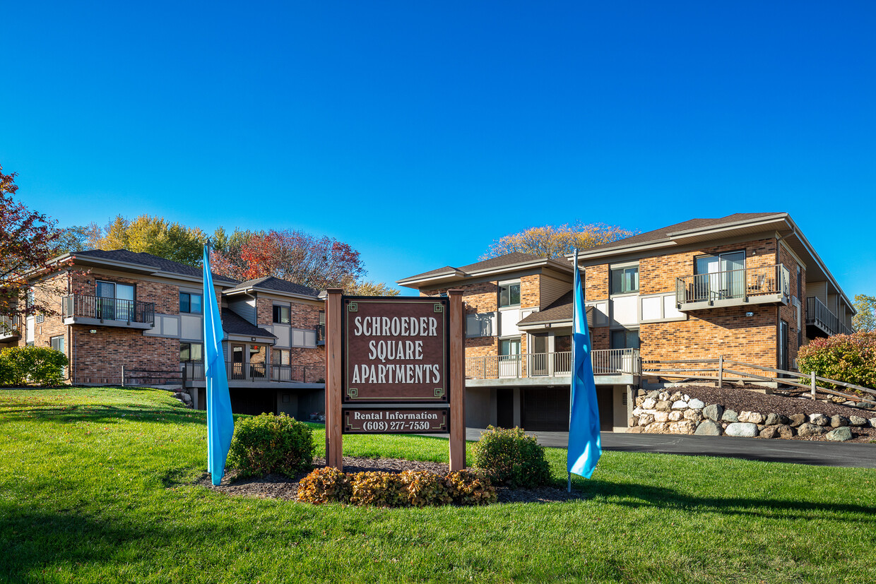
[[[530,432],[569,431],[569,388],[521,391],[521,425]],[[597,387],[599,429],[611,432],[614,426],[614,399],[611,387]]]

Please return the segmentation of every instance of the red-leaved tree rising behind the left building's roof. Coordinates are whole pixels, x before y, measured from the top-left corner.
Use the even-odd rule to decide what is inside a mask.
[[[217,234],[218,236],[219,234]],[[365,273],[359,252],[332,237],[303,231],[235,231],[215,242],[217,274],[243,280],[273,276],[315,290],[357,281]]]

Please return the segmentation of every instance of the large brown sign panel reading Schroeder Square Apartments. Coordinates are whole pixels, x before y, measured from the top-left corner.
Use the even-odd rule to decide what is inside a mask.
[[[343,297],[343,403],[449,403],[446,298]]]

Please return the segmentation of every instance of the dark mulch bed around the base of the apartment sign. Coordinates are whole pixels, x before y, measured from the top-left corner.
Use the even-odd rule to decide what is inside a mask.
[[[314,458],[314,468],[324,466],[325,459]],[[399,458],[343,457],[343,471],[345,473],[369,471],[400,473],[404,470],[427,470],[436,475],[446,475],[449,472],[449,467],[442,462],[406,461]],[[295,475],[293,479],[282,475],[267,475],[264,478],[237,480],[237,471],[229,470],[225,473],[222,482],[218,486],[213,486],[207,473],[201,475],[194,483],[226,495],[297,501],[298,482],[306,475],[307,473],[300,473]],[[552,487],[541,487],[539,489],[508,489],[498,487],[496,490],[499,503],[556,503],[584,498],[580,492],[573,491],[569,493],[566,489],[555,489]]]

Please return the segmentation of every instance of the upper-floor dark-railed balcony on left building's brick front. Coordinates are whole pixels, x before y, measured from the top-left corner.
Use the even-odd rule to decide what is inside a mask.
[[[61,299],[65,325],[96,325],[147,329],[155,326],[155,304],[88,294]]]

